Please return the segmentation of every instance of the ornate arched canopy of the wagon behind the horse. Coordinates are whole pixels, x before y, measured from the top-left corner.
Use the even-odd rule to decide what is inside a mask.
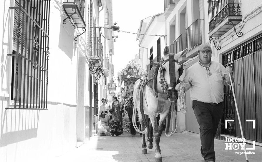
[[[134,60],[129,61],[129,64],[127,64],[122,71],[118,72],[118,86],[120,87],[119,100],[122,101],[126,93],[134,91],[135,82],[146,74],[147,72],[143,70]],[[124,94],[122,93],[122,85],[125,87]]]

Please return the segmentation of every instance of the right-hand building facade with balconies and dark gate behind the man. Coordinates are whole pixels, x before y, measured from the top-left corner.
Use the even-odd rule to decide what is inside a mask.
[[[198,45],[209,43],[212,60],[231,66],[235,77],[237,103],[240,105],[241,122],[246,139],[261,139],[261,33],[262,1],[248,0],[165,0],[167,44],[174,51],[188,48],[183,63],[197,56]],[[242,33],[241,33],[242,32]],[[243,35],[242,35],[243,34]],[[176,52],[174,52],[176,53]],[[197,62],[195,59],[190,65]],[[180,80],[183,78],[181,76]],[[189,92],[186,93],[188,111],[185,130],[199,133]],[[235,111],[232,89],[224,89],[224,117],[216,138],[241,137]],[[225,119],[234,120],[225,129]],[[256,129],[246,120],[255,120]],[[181,122],[181,121],[180,121]],[[222,134],[222,135],[220,135]]]

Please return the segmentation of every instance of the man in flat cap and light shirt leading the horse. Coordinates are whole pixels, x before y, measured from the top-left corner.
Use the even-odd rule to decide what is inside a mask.
[[[190,89],[192,107],[200,126],[201,155],[205,162],[215,161],[214,138],[224,108],[224,85],[230,85],[232,68],[211,61],[211,47],[201,44],[198,47],[199,61],[188,68],[180,85]],[[233,79],[234,80],[234,79]]]

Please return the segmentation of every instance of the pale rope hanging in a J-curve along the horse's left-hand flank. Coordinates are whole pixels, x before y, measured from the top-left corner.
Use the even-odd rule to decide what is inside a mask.
[[[136,121],[135,121],[137,106],[140,106],[138,104],[139,99],[140,99],[140,80],[137,80],[134,86],[134,95],[133,95],[134,108],[133,108],[133,115],[132,115],[132,123],[137,132],[145,134],[147,132],[147,128],[145,128],[144,131],[139,130],[139,128],[136,125]]]

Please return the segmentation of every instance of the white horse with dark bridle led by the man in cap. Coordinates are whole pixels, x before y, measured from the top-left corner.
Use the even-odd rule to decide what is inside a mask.
[[[165,47],[164,57],[158,63],[159,69],[155,71],[155,77],[156,77],[154,83],[155,88],[152,87],[152,85],[151,87],[149,85],[145,85],[143,89],[144,92],[142,92],[140,87],[141,85],[140,80],[137,80],[135,82],[133,100],[138,111],[139,121],[141,123],[141,130],[145,130],[145,127],[147,125],[144,123],[145,118],[142,116],[144,112],[144,114],[148,115],[151,120],[149,125],[147,125],[147,130],[149,130],[149,132],[152,132],[149,133],[150,138],[149,138],[148,148],[151,149],[153,147],[152,145],[153,142],[152,134],[153,134],[155,137],[155,161],[157,162],[162,161],[159,142],[160,142],[160,136],[163,131],[163,123],[168,116],[171,102],[175,101],[175,99],[178,97],[177,91],[175,90],[175,86],[180,81],[179,77],[181,75],[181,71],[183,72],[183,67],[181,69],[181,65],[178,63],[177,60],[185,54],[186,50],[187,49],[177,54],[170,54],[168,47],[167,46]],[[143,95],[141,95],[141,93],[143,93]],[[165,95],[164,100],[161,99],[160,95],[156,97],[157,95],[155,95],[154,93],[162,94],[162,96]],[[141,96],[143,96],[142,97],[143,99],[141,98]],[[141,99],[143,100],[142,102],[143,108],[140,107]],[[162,100],[163,103],[161,104],[162,108],[157,108],[158,102],[160,102],[160,100]],[[142,113],[141,110],[143,110]],[[159,112],[159,110],[161,110],[161,112]],[[157,113],[160,114],[160,120],[158,125],[156,119]],[[147,154],[145,134],[143,134],[142,142],[143,142],[142,154]]]

